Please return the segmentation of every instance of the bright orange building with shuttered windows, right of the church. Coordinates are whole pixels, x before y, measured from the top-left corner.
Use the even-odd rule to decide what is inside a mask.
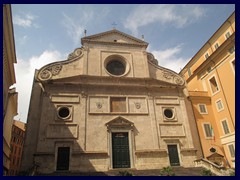
[[[203,158],[235,168],[235,12],[180,74],[188,84]]]

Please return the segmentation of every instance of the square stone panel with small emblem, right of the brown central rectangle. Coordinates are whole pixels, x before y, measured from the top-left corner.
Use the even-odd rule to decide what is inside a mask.
[[[145,97],[129,97],[129,113],[148,113],[148,103]]]

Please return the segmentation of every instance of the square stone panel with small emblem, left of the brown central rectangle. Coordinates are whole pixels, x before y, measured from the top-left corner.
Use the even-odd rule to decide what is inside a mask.
[[[109,113],[108,97],[89,97],[89,113]]]

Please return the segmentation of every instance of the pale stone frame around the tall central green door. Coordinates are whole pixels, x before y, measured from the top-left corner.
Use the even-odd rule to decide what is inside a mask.
[[[132,131],[128,129],[111,129],[111,131],[108,132],[108,143],[109,143],[109,155],[110,155],[110,166],[109,169],[116,169],[113,168],[113,152],[112,152],[112,133],[128,133],[128,147],[129,147],[129,156],[130,156],[130,168],[134,168],[133,163],[133,145],[132,145]]]

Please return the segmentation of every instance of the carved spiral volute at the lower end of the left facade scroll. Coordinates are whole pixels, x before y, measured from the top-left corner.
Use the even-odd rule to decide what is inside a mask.
[[[52,66],[48,66],[40,71],[39,73],[39,79],[40,80],[48,80],[51,79],[52,76],[56,76],[59,74],[59,72],[62,70],[61,64],[55,64]]]

